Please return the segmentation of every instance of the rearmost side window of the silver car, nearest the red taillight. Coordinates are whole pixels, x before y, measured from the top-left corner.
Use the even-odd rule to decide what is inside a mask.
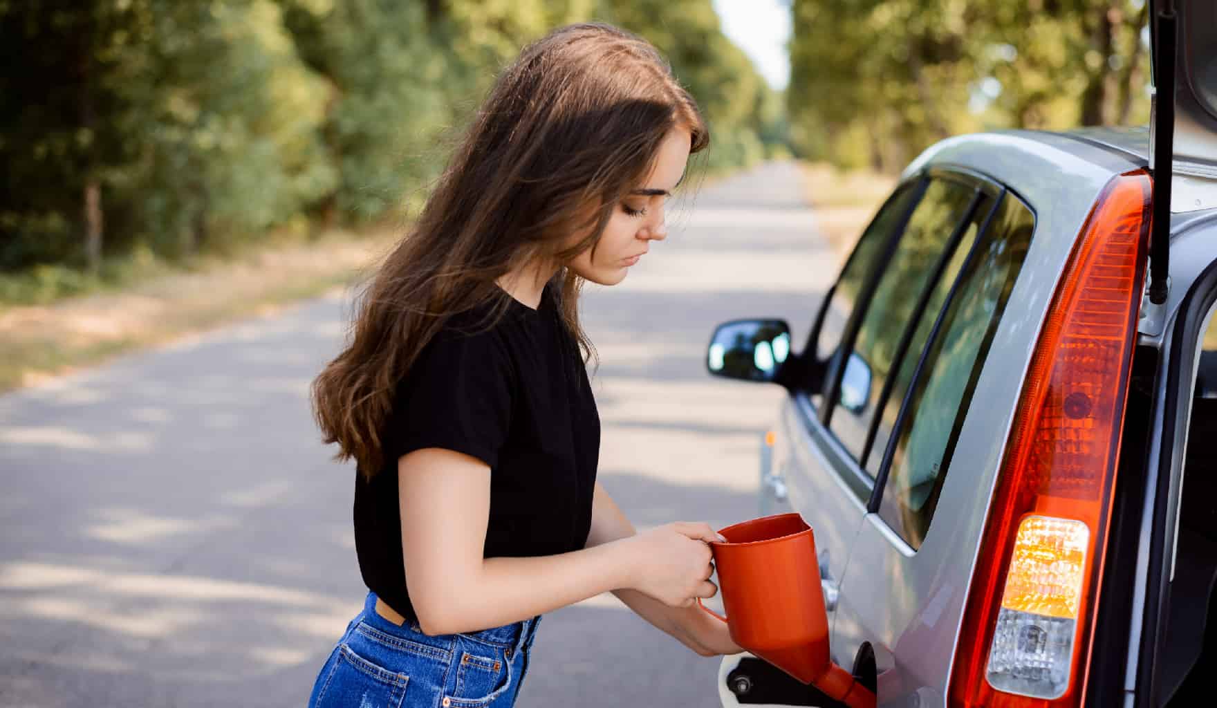
[[[880,517],[913,547],[920,547],[930,528],[955,443],[971,404],[976,381],[1034,231],[1034,217],[1013,195],[1003,198],[992,223],[972,247],[946,310],[926,310],[922,318],[941,318],[932,326],[924,363],[910,355],[897,376],[913,380],[904,417],[897,423]],[[892,395],[885,418],[896,420],[902,405]],[[873,455],[884,455],[875,448]]]

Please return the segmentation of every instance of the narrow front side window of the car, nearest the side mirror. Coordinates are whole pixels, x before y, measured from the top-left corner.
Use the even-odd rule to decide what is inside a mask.
[[[849,260],[841,270],[841,276],[837,279],[832,297],[824,311],[824,324],[820,325],[819,339],[815,342],[818,361],[826,360],[841,345],[846,321],[853,311],[854,303],[858,302],[858,294],[867,282],[867,276],[879,263],[884,246],[890,241],[892,232],[899,229],[904,221],[904,215],[913,206],[916,193],[915,184],[901,187],[884,203],[862,237],[858,238],[858,245],[853,247]]]

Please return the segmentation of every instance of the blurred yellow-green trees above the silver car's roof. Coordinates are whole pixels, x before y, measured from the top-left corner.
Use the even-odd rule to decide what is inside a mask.
[[[1145,0],[793,0],[797,153],[896,172],[948,135],[1149,120]]]

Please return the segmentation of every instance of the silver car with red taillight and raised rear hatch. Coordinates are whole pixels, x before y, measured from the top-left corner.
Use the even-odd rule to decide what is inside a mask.
[[[1217,2],[1174,5],[1154,128],[942,141],[800,353],[772,319],[711,342],[789,392],[762,512],[814,529],[881,706],[1217,704]],[[835,704],[747,653],[719,693]]]

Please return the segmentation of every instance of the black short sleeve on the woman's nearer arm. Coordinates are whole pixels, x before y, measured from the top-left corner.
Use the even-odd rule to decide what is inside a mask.
[[[492,468],[507,439],[514,392],[511,360],[493,332],[443,331],[419,355],[398,399],[391,436],[398,456],[443,448]]]

